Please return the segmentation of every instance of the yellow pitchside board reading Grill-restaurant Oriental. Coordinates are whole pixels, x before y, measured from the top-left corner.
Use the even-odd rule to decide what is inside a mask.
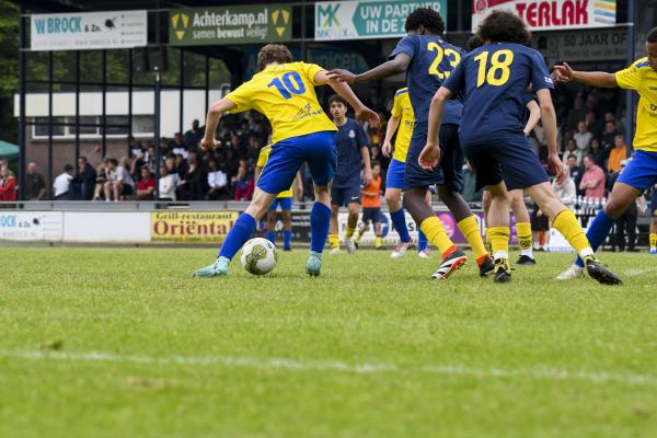
[[[151,242],[221,243],[238,211],[153,211]]]

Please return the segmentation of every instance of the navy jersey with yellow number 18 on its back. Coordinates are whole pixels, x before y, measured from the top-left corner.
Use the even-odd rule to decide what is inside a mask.
[[[548,66],[537,50],[511,43],[485,44],[470,51],[445,81],[465,92],[461,145],[525,137],[527,88],[552,89]]]

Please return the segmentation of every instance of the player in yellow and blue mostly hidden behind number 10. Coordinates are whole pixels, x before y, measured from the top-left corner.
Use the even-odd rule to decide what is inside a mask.
[[[263,173],[263,169],[267,164],[267,161],[269,161],[269,153],[272,153],[272,145],[262,148],[257,155],[257,163],[255,164],[256,184],[260,175]],[[299,172],[297,172],[295,184],[289,189],[280,192],[269,206],[269,211],[267,211],[267,240],[276,244],[276,210],[280,206],[283,216],[283,251],[292,251],[292,200],[295,189],[297,191],[297,198],[300,198],[303,192],[303,183],[301,182],[301,174]]]

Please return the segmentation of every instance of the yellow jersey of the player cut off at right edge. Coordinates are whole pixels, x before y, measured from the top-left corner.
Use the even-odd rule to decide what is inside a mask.
[[[642,58],[615,73],[619,87],[635,90],[638,95],[634,149],[657,152],[657,71]]]

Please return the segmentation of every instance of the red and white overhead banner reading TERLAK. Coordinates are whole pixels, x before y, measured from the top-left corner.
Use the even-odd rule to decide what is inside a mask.
[[[472,0],[472,31],[492,11],[510,11],[531,31],[611,27],[616,0]]]

